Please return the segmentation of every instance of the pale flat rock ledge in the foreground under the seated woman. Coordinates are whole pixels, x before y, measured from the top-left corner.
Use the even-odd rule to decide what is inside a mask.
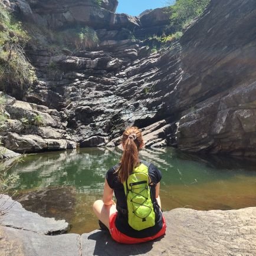
[[[256,255],[256,207],[230,211],[177,208],[165,212],[165,217],[166,235],[139,245],[117,244],[109,232],[99,230],[44,235],[32,227],[38,225],[35,218],[24,220],[26,228],[6,227],[2,222],[0,255]]]

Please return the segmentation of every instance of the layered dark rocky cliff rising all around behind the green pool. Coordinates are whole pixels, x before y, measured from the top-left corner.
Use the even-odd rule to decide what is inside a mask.
[[[180,40],[158,51],[152,47],[160,42],[145,38],[173,31],[164,9],[130,17],[114,13],[116,0],[101,6],[90,0],[5,2],[25,22],[53,31],[90,25],[99,37],[87,51],[50,51],[47,44],[27,50],[38,81],[19,100],[34,109],[29,111],[55,119],[56,125],[43,124],[60,129],[55,139],[81,147],[116,146],[124,127],[136,125],[146,146],[256,155],[254,0],[211,1]],[[57,77],[48,72],[52,64]],[[17,104],[5,107],[11,120],[19,120]],[[2,133],[8,148],[22,138],[17,148],[37,151],[25,146],[28,134],[52,139],[16,125]]]

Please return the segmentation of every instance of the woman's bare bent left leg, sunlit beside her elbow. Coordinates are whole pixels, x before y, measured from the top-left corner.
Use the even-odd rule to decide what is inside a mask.
[[[97,200],[93,204],[93,211],[97,218],[109,228],[109,217],[116,212],[116,205],[104,205],[102,200]]]

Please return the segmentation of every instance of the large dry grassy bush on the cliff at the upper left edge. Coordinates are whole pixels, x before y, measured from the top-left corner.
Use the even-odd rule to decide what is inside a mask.
[[[11,14],[0,4],[0,83],[23,88],[35,80],[35,71],[24,54],[29,40]]]

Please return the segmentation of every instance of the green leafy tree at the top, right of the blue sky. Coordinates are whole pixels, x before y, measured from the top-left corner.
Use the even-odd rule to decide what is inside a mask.
[[[169,7],[170,24],[181,31],[192,19],[199,17],[209,4],[210,0],[176,0],[174,5]]]

